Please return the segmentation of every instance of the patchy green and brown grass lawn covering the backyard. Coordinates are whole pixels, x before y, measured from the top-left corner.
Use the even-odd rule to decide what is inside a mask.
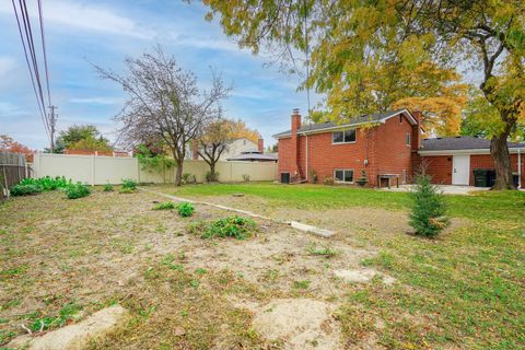
[[[131,320],[93,349],[281,349],[290,339],[253,325],[276,300],[330,305],[324,327],[332,331],[304,349],[323,349],[324,336],[349,349],[525,347],[524,192],[447,196],[451,228],[423,240],[407,234],[402,192],[268,183],[149,188],[337,235],[257,221],[254,237],[203,240],[190,228],[231,213],[197,206],[179,218],[151,210],[165,199],[140,191],[14,198],[0,205],[0,347],[23,332],[20,324],[47,319],[52,329],[118,302]],[[334,276],[341,269],[377,275],[349,283]]]

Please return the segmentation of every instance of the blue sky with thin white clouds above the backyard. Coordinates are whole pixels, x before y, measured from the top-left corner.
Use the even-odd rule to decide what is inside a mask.
[[[28,0],[28,3],[35,3]],[[199,2],[138,0],[45,0],[44,15],[51,96],[59,107],[58,129],[93,124],[110,140],[112,120],[126,98],[118,85],[100,80],[88,62],[122,69],[126,56],[138,56],[160,43],[178,63],[194,71],[202,88],[210,67],[232,82],[234,91],[223,102],[225,115],[241,118],[259,130],[266,144],[271,135],[289,127],[292,108],[307,109],[298,77],[285,75],[268,60],[241,50],[218,23],[203,20]],[[30,8],[35,15],[36,9]],[[32,18],[34,24],[37,19]],[[37,114],[11,1],[0,1],[0,135],[12,136],[33,149],[47,147]]]

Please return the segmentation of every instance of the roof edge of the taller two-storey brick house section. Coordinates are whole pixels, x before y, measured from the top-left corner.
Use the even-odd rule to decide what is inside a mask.
[[[299,128],[298,133],[313,133],[313,132],[330,130],[330,129],[353,127],[353,126],[358,126],[365,122],[374,122],[374,121],[384,122],[386,119],[394,117],[400,113],[404,113],[407,116],[407,118],[410,120],[410,122],[412,122],[412,125],[417,124],[416,119],[410,114],[410,112],[408,112],[407,109],[396,109],[396,110],[387,110],[384,113],[374,113],[374,114],[368,114],[368,115],[362,115],[358,117],[351,117],[349,118],[350,121],[346,124],[335,124],[331,121],[326,121],[326,122],[317,122],[312,125],[304,125],[301,128]],[[279,139],[283,137],[289,137],[291,135],[292,135],[292,131],[287,130],[287,131],[273,135],[273,138]]]

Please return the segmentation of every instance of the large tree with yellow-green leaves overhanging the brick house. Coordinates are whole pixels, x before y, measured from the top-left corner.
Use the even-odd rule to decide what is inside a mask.
[[[312,74],[304,85],[327,94],[335,119],[402,102],[438,107],[428,116],[453,113],[463,107],[454,68],[470,68],[499,114],[491,138],[494,187],[512,188],[506,140],[524,117],[525,96],[522,0],[203,2],[208,19],[220,14],[224,32],[254,52],[267,46],[294,66],[294,54],[310,46]]]

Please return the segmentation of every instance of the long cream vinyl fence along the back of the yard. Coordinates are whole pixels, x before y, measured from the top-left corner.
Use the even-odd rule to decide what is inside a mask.
[[[205,161],[185,161],[183,173],[195,175],[197,182],[206,179],[210,170]],[[250,180],[275,180],[277,163],[275,162],[225,162],[215,165],[219,180],[223,183],[242,182],[243,175]],[[36,153],[33,163],[33,176],[66,176],[73,182],[90,185],[120,184],[122,178],[131,178],[138,183],[173,183],[175,167],[160,173],[142,168],[136,158],[95,156],[72,154]]]

